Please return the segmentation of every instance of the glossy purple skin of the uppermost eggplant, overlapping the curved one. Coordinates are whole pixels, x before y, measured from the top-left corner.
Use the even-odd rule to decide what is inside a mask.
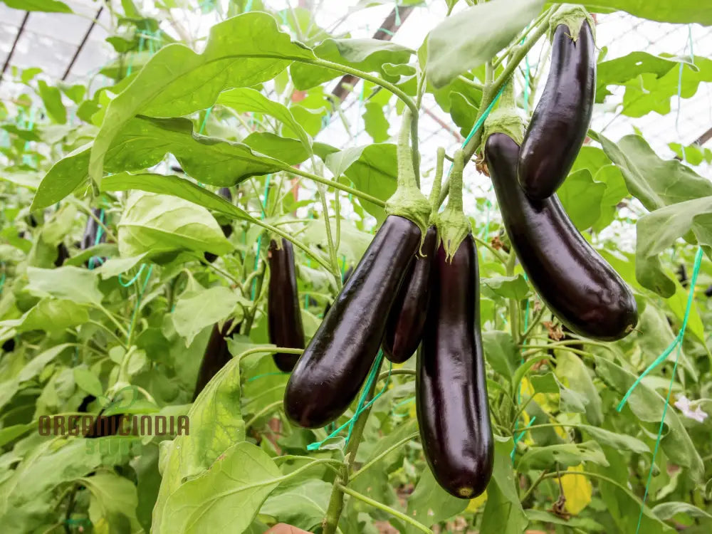
[[[551,70],[524,135],[519,184],[530,199],[547,199],[564,182],[591,124],[596,95],[596,47],[588,22],[577,41],[560,24],[551,46]]]

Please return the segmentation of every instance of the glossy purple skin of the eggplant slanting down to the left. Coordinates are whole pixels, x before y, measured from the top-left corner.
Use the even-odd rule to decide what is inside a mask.
[[[386,218],[289,377],[284,411],[292,422],[325,426],[356,398],[420,238],[412,221]]]

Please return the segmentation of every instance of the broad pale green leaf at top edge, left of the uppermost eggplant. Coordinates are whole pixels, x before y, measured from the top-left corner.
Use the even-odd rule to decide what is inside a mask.
[[[543,0],[496,0],[449,16],[428,36],[428,78],[441,88],[457,75],[490,61],[541,11]]]

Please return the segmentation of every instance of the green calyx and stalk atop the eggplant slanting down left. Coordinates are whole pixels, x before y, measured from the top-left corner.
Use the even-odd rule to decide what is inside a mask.
[[[420,188],[415,182],[411,148],[408,144],[411,122],[411,112],[406,108],[403,112],[403,122],[398,135],[398,186],[396,192],[386,201],[386,213],[404,217],[417,224],[421,232],[422,246],[428,229],[430,202],[420,192]]]

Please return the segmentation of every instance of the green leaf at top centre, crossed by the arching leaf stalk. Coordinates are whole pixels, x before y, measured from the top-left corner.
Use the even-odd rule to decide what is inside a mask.
[[[318,58],[365,72],[382,72],[385,63],[408,63],[413,51],[410,48],[380,39],[332,39],[322,41],[314,48]],[[339,70],[318,65],[293,63],[289,68],[295,89],[305,90],[337,78]]]

